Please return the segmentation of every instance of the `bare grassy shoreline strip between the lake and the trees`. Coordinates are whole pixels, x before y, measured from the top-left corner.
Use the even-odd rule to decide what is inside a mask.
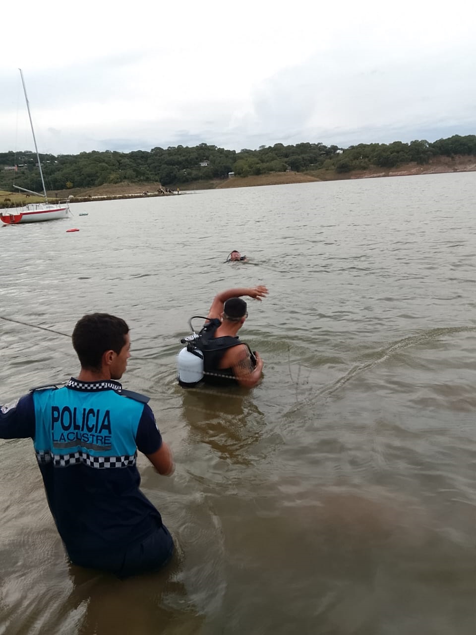
[[[309,170],[306,172],[275,172],[261,174],[256,177],[235,177],[227,179],[213,179],[208,181],[196,181],[193,183],[175,184],[169,186],[176,193],[190,192],[194,190],[224,189],[228,187],[256,187],[258,185],[285,185],[293,183],[310,183],[319,181],[345,180],[349,178],[378,178],[378,177],[402,177],[407,175],[441,174],[447,172],[472,172],[476,171],[476,157],[435,157],[430,163],[418,165],[409,163],[397,168],[387,170],[372,168],[371,170],[352,171],[337,174],[335,170]],[[122,198],[159,197],[171,196],[159,195],[161,184],[150,183],[119,183],[110,185],[98,185],[98,187],[72,188],[48,192],[51,203],[71,197],[71,203],[83,201],[114,200]],[[5,201],[5,199],[7,199]],[[10,200],[8,200],[10,199]],[[0,191],[0,208],[20,206],[25,203],[38,203],[43,198],[25,197],[25,194]]]

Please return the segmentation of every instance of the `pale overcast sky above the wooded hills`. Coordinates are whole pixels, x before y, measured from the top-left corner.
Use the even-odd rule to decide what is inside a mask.
[[[4,3],[0,152],[476,133],[474,0]]]

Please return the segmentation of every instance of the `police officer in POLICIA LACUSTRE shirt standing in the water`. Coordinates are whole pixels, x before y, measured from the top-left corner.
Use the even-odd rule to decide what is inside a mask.
[[[120,578],[155,571],[172,556],[161,514],[139,489],[137,450],[159,474],[172,474],[149,398],[119,379],[130,357],[129,327],[106,313],[77,322],[81,363],[67,385],[33,389],[0,410],[0,438],[34,441],[46,498],[75,565]]]

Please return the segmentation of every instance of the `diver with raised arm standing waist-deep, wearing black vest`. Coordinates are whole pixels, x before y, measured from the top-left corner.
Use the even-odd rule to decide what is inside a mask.
[[[215,296],[207,321],[197,339],[203,354],[204,382],[214,385],[240,385],[253,388],[263,370],[263,359],[248,344],[239,341],[238,331],[248,318],[248,306],[241,296],[261,300],[268,295],[265,286],[228,289]]]

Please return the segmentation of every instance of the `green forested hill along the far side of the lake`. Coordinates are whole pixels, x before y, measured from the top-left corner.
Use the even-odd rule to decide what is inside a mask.
[[[150,152],[81,152],[81,154],[41,154],[48,190],[93,187],[121,182],[161,182],[162,185],[187,184],[199,180],[248,177],[293,170],[329,170],[346,173],[369,168],[394,168],[408,163],[426,164],[433,157],[476,155],[476,135],[454,135],[433,143],[425,140],[409,144],[359,144],[347,149],[336,145],[302,143],[261,145],[258,150],[225,150],[216,145],[152,148]],[[36,154],[30,150],[0,153],[0,189],[15,184],[41,190]]]

